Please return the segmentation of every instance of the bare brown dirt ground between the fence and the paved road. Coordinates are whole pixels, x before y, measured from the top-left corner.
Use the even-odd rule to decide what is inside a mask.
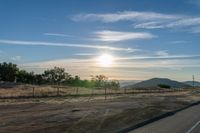
[[[111,133],[200,100],[199,92],[0,100],[0,133]]]

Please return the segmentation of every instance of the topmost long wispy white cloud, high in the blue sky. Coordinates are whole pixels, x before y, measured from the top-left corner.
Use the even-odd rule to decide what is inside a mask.
[[[105,23],[118,21],[150,21],[150,20],[169,20],[177,19],[180,16],[168,15],[155,12],[123,11],[105,14],[78,14],[72,17],[74,21],[102,21]]]

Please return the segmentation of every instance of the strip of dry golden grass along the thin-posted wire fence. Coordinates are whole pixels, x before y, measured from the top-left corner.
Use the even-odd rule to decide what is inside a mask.
[[[109,95],[139,94],[139,93],[164,93],[191,91],[192,89],[108,89],[108,88],[81,88],[66,86],[33,86],[18,85],[14,88],[1,88],[0,98],[18,97],[55,97],[55,96],[93,96],[104,95],[105,99]]]

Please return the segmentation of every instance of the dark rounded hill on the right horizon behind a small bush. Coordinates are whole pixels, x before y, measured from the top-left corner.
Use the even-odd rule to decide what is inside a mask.
[[[165,84],[169,85],[173,88],[182,88],[182,87],[189,87],[190,85],[178,82],[175,80],[170,80],[167,78],[152,78],[149,80],[145,80],[133,85],[126,86],[127,88],[153,88],[158,87],[158,84]]]

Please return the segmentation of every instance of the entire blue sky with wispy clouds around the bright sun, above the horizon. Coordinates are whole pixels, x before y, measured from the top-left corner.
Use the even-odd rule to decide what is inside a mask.
[[[200,0],[0,0],[0,62],[35,73],[200,80],[199,42]]]

